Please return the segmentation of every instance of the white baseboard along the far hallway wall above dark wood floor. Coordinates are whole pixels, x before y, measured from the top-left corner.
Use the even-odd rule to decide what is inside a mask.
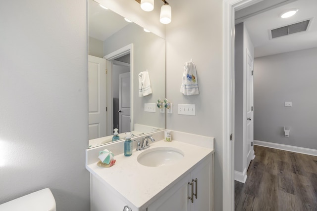
[[[269,147],[269,148],[274,148],[274,149],[281,149],[285,151],[290,151],[290,152],[297,152],[297,153],[302,153],[306,155],[313,155],[317,156],[317,150],[316,149],[309,149],[309,148],[304,148],[304,147],[295,147],[291,145],[285,145],[285,144],[277,144],[277,143],[272,143],[272,142],[267,142],[267,141],[258,141],[254,140],[254,145],[259,145],[259,146],[264,146],[264,147]]]

